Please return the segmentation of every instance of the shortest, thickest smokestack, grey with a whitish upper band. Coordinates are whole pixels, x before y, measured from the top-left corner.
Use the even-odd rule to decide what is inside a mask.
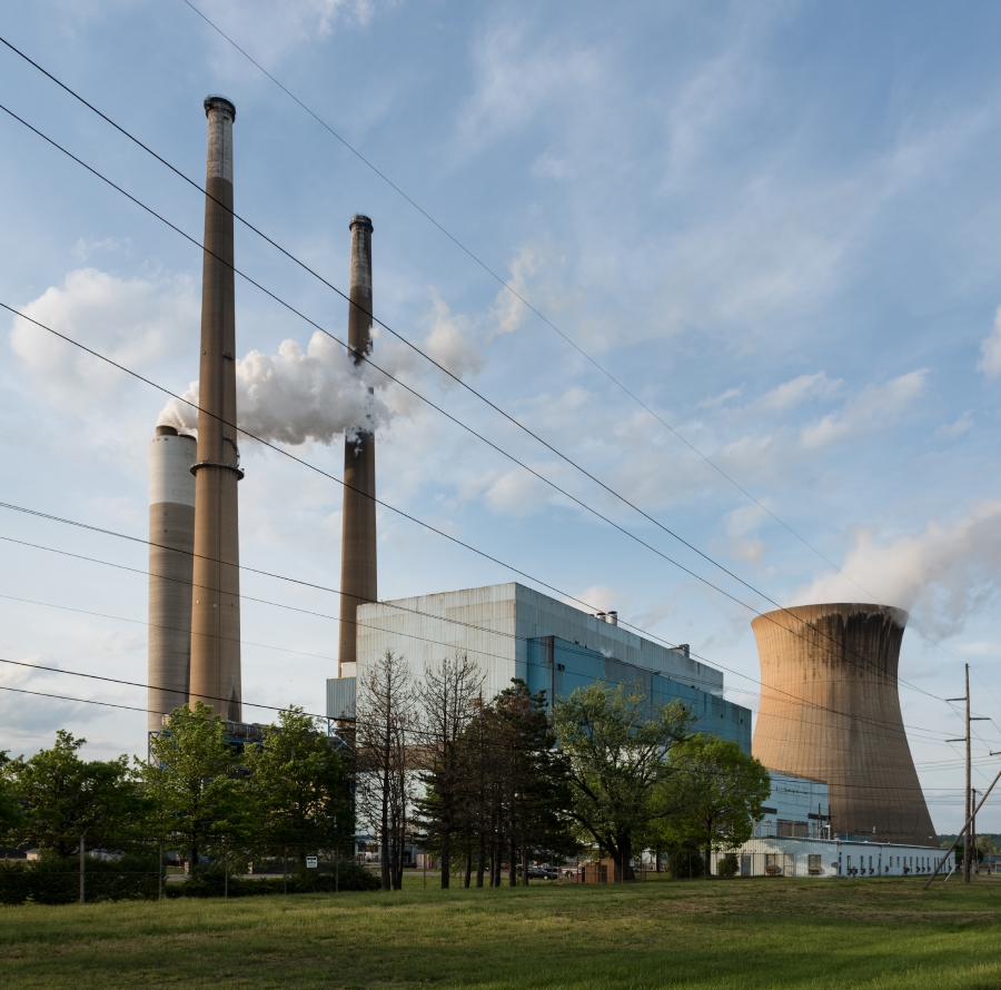
[[[195,437],[172,426],[158,426],[149,442],[149,732],[188,700],[195,455]]]

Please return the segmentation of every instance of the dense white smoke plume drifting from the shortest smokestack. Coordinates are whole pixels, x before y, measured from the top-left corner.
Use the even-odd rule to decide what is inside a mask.
[[[319,330],[305,353],[295,340],[283,340],[274,356],[251,350],[237,359],[236,380],[240,429],[271,443],[330,444],[341,434],[375,430],[394,415],[385,396],[389,379],[365,362],[355,366],[347,349]],[[198,404],[197,382],[182,398]],[[172,398],[158,422],[190,432],[198,413]]]

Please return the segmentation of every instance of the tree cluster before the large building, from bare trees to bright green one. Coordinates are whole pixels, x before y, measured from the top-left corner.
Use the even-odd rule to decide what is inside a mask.
[[[591,852],[634,879],[644,851],[668,861],[752,834],[771,790],[740,745],[694,731],[681,701],[593,683],[549,705],[514,680],[489,702],[457,653],[415,682],[387,651],[358,684],[359,826],[377,836],[383,888],[399,889],[408,845],[434,853],[440,883],[527,882],[535,859]],[[691,869],[691,865],[690,865]],[[475,880],[474,880],[475,878]]]

